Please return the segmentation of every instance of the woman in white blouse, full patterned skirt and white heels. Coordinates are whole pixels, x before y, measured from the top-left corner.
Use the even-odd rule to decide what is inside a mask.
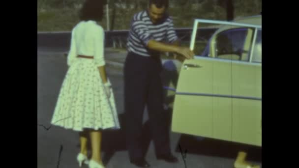
[[[106,76],[102,0],[86,0],[80,22],[72,29],[67,56],[69,69],[60,89],[51,123],[79,132],[79,166],[104,168],[100,155],[101,130],[119,129],[113,90]],[[87,158],[90,135],[92,156]]]

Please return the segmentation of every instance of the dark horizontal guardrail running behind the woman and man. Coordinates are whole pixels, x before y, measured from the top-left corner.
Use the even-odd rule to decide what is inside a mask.
[[[209,40],[209,37],[217,28],[199,28],[197,39]],[[189,42],[192,28],[176,28],[177,35],[181,41]],[[125,48],[129,30],[105,31],[105,47]],[[65,48],[70,45],[71,32],[42,32],[37,34],[37,47]]]

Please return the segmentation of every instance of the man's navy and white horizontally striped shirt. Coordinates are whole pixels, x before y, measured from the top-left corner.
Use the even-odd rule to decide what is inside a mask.
[[[155,53],[146,47],[151,39],[164,43],[173,43],[178,39],[171,17],[166,16],[161,23],[154,25],[146,10],[134,15],[130,27],[127,50],[141,56]]]

